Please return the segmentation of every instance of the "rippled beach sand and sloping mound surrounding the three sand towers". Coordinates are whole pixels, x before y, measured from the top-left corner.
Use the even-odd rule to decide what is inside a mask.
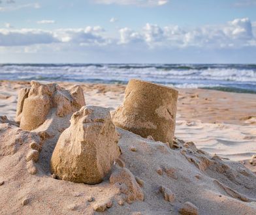
[[[0,115],[14,120],[23,87],[29,83],[0,82]],[[125,86],[82,84],[82,89],[86,104],[114,110]],[[0,214],[255,214],[256,169],[249,164],[256,154],[255,94],[179,92],[176,149],[118,128],[120,160],[96,185],[57,180],[50,173],[50,157],[63,132],[60,119],[29,135],[12,122],[0,124],[0,144],[7,145],[0,147],[5,152],[0,154]],[[29,163],[33,141],[42,149],[39,160]]]

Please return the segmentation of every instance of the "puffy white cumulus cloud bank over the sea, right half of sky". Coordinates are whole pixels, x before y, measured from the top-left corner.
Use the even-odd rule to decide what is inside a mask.
[[[227,48],[255,46],[255,36],[248,18],[236,19],[222,26],[185,29],[178,25],[160,27],[147,23],[142,31],[120,29],[120,44],[143,42],[148,47]]]

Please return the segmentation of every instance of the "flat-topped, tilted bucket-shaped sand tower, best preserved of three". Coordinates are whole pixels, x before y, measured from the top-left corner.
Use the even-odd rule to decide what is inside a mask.
[[[178,91],[164,85],[131,79],[123,104],[113,113],[113,122],[144,138],[170,143],[174,137]]]

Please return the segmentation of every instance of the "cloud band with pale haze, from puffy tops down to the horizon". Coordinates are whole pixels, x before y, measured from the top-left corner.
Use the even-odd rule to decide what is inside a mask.
[[[5,28],[0,29],[0,53],[5,53],[0,61],[12,56],[14,60],[41,62],[39,56],[44,56],[45,62],[254,62],[255,32],[256,24],[248,18],[190,29],[152,23],[136,31],[121,27],[114,32],[100,26],[48,31]]]

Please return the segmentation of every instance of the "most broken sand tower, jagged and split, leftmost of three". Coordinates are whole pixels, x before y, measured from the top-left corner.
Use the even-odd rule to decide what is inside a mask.
[[[18,94],[16,121],[24,130],[35,130],[52,109],[56,108],[57,116],[64,117],[84,105],[84,94],[78,85],[66,90],[57,83],[31,81],[31,89],[22,89]]]

